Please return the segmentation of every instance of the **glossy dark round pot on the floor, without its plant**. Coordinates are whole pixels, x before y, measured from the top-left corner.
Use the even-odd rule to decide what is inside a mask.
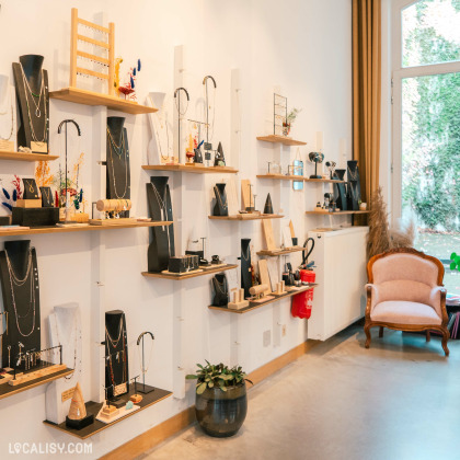
[[[243,425],[248,413],[245,383],[220,388],[207,388],[196,395],[196,419],[203,430],[216,438],[233,436]]]

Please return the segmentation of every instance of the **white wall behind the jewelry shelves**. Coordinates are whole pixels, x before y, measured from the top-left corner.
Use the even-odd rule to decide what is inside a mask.
[[[142,60],[138,78],[141,102],[151,90],[173,92],[174,46],[186,45],[185,80],[194,89],[196,100],[203,94],[200,81],[212,74],[218,84],[216,140],[222,140],[230,152],[230,71],[241,72],[242,134],[239,159],[240,179],[249,177],[256,185],[257,204],[262,207],[271,192],[275,208],[283,204],[284,212],[292,219],[299,241],[307,231],[327,222],[322,217],[306,217],[325,192],[322,185],[304,184],[303,192],[291,191],[291,184],[256,181],[255,175],[266,171],[266,161],[281,156],[284,164],[294,160],[296,150],[279,150],[255,139],[269,134],[273,90],[280,87],[290,107],[302,108],[292,136],[306,140],[301,156],[314,150],[315,131],[324,133],[327,159],[338,161],[338,141],[347,140],[350,157],[352,142],[352,5],[349,0],[193,0],[137,1],[120,0],[4,0],[0,11],[0,73],[11,73],[11,62],[22,54],[45,56],[51,90],[68,85],[70,7],[77,7],[80,16],[92,19],[104,11],[105,21],[115,22],[116,56]],[[196,90],[195,90],[196,88]],[[202,91],[202,92],[199,92]],[[172,100],[170,97],[172,107]],[[74,117],[82,128],[81,149],[85,152],[82,172],[83,188],[90,191],[91,175],[100,168],[93,151],[94,110],[83,105],[50,102],[50,148],[62,154],[56,135],[57,125],[66,117]],[[170,113],[172,113],[170,111]],[[134,214],[146,215],[145,183],[149,175],[141,170],[146,164],[150,130],[145,116],[126,116],[131,160],[131,198]],[[77,156],[77,151],[71,153]],[[237,163],[233,158],[230,162]],[[57,168],[57,163],[54,165]],[[2,162],[0,174],[33,174],[33,165]],[[311,166],[307,165],[311,174]],[[217,177],[184,175],[173,177],[173,200],[184,189],[182,217],[183,238],[195,227],[199,235],[208,237],[209,254],[237,256],[240,238],[251,238],[254,252],[262,245],[258,222],[216,222],[207,219],[210,187]],[[214,181],[214,182],[212,182]],[[182,188],[184,187],[184,188]],[[91,196],[92,200],[99,196]],[[196,204],[200,205],[197,206]],[[325,218],[324,218],[325,219]],[[179,223],[177,223],[179,228]],[[130,353],[130,375],[137,375],[138,360],[134,343],[140,332],[156,334],[154,357],[148,373],[149,383],[164,389],[182,386],[182,376],[194,370],[195,363],[205,358],[231,363],[234,359],[251,371],[307,337],[304,321],[290,317],[290,302],[275,303],[252,313],[233,315],[208,310],[209,279],[196,278],[182,284],[147,279],[140,272],[147,268],[148,231],[117,230],[106,232],[105,292],[106,310],[126,312]],[[16,238],[11,238],[16,239]],[[53,307],[78,301],[82,310],[84,375],[83,393],[94,398],[94,378],[97,368],[91,368],[96,342],[103,337],[91,334],[91,324],[99,312],[91,304],[91,248],[97,237],[90,233],[34,235],[37,249],[42,323]],[[294,265],[299,255],[292,257]],[[314,258],[314,257],[313,257]],[[182,299],[182,300],[181,300]],[[182,304],[179,302],[182,301]],[[180,312],[184,321],[177,326]],[[238,319],[234,317],[239,317]],[[264,331],[277,333],[286,324],[287,335],[278,346],[263,346]],[[45,337],[45,327],[42,327]],[[279,332],[279,331],[278,331]],[[234,344],[240,337],[240,345]],[[182,340],[182,342],[181,342]],[[177,359],[177,349],[180,358]],[[174,352],[175,350],[175,352]],[[179,363],[180,361],[180,363]],[[233,363],[232,363],[233,364]],[[177,372],[177,366],[183,372]],[[193,386],[187,383],[185,399],[170,398],[136,416],[96,435],[92,457],[108,452],[130,438],[181,412],[194,402]],[[9,441],[71,441],[70,437],[42,424],[45,418],[44,388],[37,388],[0,402],[0,451]],[[67,456],[67,458],[70,458]]]

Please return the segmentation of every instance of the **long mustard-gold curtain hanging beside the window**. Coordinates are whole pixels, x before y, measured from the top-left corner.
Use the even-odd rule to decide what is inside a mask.
[[[353,0],[353,158],[368,204],[379,186],[380,100],[381,0]]]

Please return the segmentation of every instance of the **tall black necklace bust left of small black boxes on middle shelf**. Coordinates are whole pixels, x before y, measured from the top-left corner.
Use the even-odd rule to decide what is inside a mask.
[[[147,184],[149,216],[152,220],[173,221],[170,186],[168,177],[150,179]],[[162,272],[168,269],[169,258],[175,255],[174,225],[152,228],[152,239],[148,251],[148,271]]]

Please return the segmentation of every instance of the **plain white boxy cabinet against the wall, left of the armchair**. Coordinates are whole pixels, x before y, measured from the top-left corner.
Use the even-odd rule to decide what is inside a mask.
[[[365,314],[368,227],[310,231],[318,287],[308,321],[308,338],[325,341]]]

